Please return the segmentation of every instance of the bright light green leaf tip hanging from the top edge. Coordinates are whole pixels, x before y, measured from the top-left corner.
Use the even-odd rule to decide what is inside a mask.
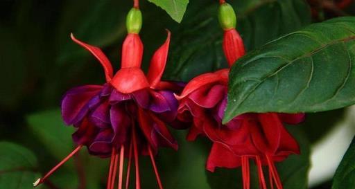
[[[168,12],[175,21],[182,21],[189,0],[148,0]]]

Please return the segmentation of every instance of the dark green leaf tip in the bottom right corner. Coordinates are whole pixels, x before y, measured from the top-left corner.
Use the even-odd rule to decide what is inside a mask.
[[[355,188],[355,137],[352,140],[343,160],[340,162],[332,189],[354,189]]]

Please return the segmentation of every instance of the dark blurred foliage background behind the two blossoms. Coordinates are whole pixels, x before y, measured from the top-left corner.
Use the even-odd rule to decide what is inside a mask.
[[[231,1],[238,15],[237,29],[248,51],[312,22],[355,13],[354,3],[339,9],[329,7],[327,3],[333,1],[324,2]],[[71,87],[102,84],[104,76],[100,64],[71,42],[69,34],[103,48],[118,69],[126,35],[125,15],[131,6],[131,1],[122,0],[0,1],[0,189],[32,188],[31,183],[40,174],[71,152],[73,128],[64,126],[60,118],[61,96]],[[144,69],[164,42],[164,28],[172,31],[164,78],[188,81],[224,67],[217,8],[216,1],[191,1],[178,24],[153,3],[141,1]],[[341,128],[349,129],[347,133],[353,135],[351,115],[354,110],[349,108],[309,114],[303,125],[288,127],[300,142],[302,155],[278,164],[284,188],[308,188],[310,150],[318,152],[315,147],[321,148],[324,138]],[[336,126],[338,123],[341,124]],[[174,133],[180,143],[179,152],[162,150],[157,156],[166,188],[241,188],[240,170],[217,170],[214,174],[205,171],[211,145],[207,140],[187,143],[184,131]],[[346,150],[342,147],[349,143],[343,139],[343,143],[334,142],[340,145],[340,158]],[[143,188],[157,188],[149,159],[141,161]],[[107,159],[88,156],[83,150],[41,187],[105,188],[107,163]],[[330,171],[332,175],[334,170]],[[252,188],[257,188],[256,170],[252,172]],[[311,186],[330,188],[330,179],[331,176],[324,176]]]

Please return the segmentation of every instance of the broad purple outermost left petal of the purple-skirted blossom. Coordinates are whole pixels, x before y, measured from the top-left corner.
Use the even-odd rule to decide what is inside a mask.
[[[90,105],[94,106],[95,98],[100,93],[102,87],[99,85],[85,85],[76,87],[67,91],[62,99],[62,117],[64,123],[71,125],[78,122],[85,114],[87,114],[87,103],[92,101]]]

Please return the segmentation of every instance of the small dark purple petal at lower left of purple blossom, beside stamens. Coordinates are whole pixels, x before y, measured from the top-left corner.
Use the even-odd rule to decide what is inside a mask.
[[[112,140],[114,133],[112,129],[104,129],[98,133],[92,145],[89,146],[89,150],[95,154],[107,154],[112,150]]]

